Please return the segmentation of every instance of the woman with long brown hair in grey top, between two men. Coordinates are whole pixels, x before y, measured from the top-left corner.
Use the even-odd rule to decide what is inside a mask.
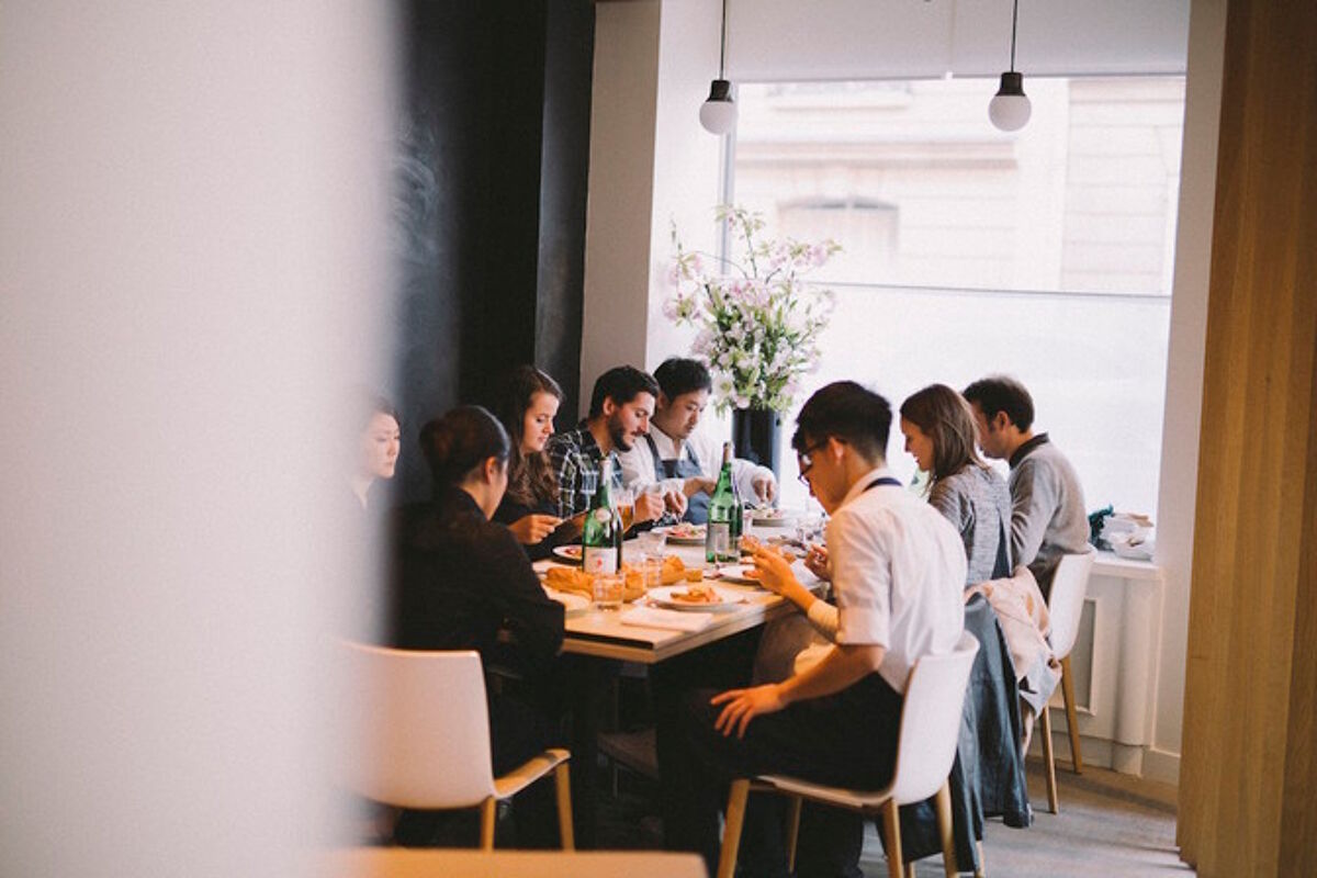
[[[960,532],[969,571],[965,586],[1009,577],[1010,490],[975,448],[973,411],[946,384],[901,404],[905,450],[931,478],[931,503]]]

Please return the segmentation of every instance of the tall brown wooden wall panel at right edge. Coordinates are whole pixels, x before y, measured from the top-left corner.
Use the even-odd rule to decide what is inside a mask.
[[[1314,861],[1317,4],[1233,0],[1189,609],[1181,856]]]

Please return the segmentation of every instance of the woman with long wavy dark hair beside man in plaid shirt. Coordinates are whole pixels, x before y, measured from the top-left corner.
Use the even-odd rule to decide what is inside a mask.
[[[553,546],[574,538],[560,527],[558,482],[544,446],[553,436],[553,416],[562,388],[535,366],[518,366],[507,376],[495,411],[511,438],[507,492],[494,521],[507,525],[532,561],[547,558]]]

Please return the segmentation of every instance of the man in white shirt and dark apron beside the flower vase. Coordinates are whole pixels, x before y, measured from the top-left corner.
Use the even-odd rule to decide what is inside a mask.
[[[664,492],[681,491],[687,498],[684,521],[709,519],[709,495],[722,467],[720,444],[698,430],[714,383],[697,359],[670,357],[655,370],[658,400],[649,419],[649,433],[619,455],[622,478],[639,496],[647,484],[658,482]],[[749,461],[732,461],[736,490],[745,500],[768,503],[777,496],[773,470]]]

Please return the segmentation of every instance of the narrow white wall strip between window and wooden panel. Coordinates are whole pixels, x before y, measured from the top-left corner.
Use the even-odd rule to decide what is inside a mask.
[[[1180,220],[1176,234],[1175,291],[1167,358],[1166,417],[1162,432],[1162,484],[1158,500],[1156,563],[1166,575],[1154,749],[1144,758],[1150,777],[1179,777],[1188,649],[1189,577],[1198,482],[1198,429],[1202,363],[1208,330],[1208,275],[1216,204],[1221,71],[1225,54],[1223,0],[1197,0],[1189,21]]]

